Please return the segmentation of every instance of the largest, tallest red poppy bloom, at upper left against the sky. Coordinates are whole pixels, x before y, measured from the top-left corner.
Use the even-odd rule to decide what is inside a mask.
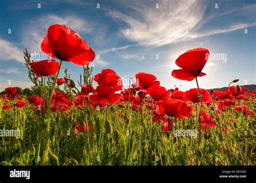
[[[63,61],[71,61],[83,66],[95,59],[95,52],[85,40],[65,25],[52,25],[41,44],[45,54]]]

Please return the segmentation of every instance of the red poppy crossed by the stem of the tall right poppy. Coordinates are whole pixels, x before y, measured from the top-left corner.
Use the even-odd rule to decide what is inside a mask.
[[[208,103],[212,101],[211,94],[206,89],[200,88],[200,93],[204,103]],[[188,91],[185,91],[183,95],[183,99],[185,102],[190,101],[192,103],[199,103],[200,97],[199,97],[198,89],[192,88]]]

